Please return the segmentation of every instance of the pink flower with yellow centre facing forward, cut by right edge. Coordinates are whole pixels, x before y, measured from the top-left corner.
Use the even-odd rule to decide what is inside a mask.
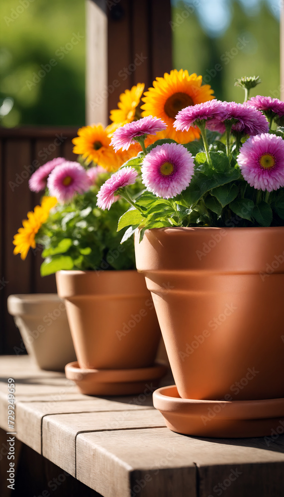
[[[284,186],[284,140],[263,133],[249,138],[237,157],[245,180],[257,190],[278,190]]]

